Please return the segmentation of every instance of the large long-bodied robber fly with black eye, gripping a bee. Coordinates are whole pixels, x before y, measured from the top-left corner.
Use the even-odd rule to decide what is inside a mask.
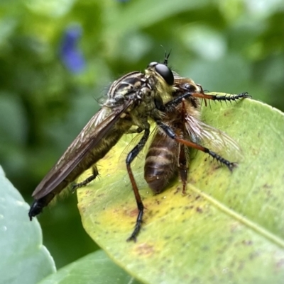
[[[138,207],[136,225],[128,240],[136,240],[143,221],[144,206],[131,170],[131,162],[148,140],[150,134],[148,120],[153,120],[165,135],[176,142],[191,145],[188,144],[191,143],[190,141],[178,137],[170,126],[163,123],[164,112],[178,106],[184,98],[192,96],[190,91],[183,89],[179,91],[175,86],[174,74],[167,66],[168,57],[169,55],[165,56],[164,64],[151,62],[144,73],[131,72],[111,84],[102,108],[89,120],[59,161],[35,188],[32,195],[35,200],[28,212],[31,220],[42,212],[55,195],[90,167],[93,169],[92,176],[82,183],[77,183],[72,189],[85,186],[94,180],[98,175],[97,161],[109,152],[122,135],[143,132],[141,140],[126,157],[126,169]],[[173,94],[177,96],[173,98]],[[222,159],[219,156],[215,158]]]

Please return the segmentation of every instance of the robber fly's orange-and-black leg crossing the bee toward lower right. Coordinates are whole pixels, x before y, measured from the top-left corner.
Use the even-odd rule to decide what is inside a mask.
[[[191,142],[189,140],[184,140],[181,137],[178,137],[175,134],[175,132],[170,127],[168,127],[168,125],[165,125],[164,123],[162,123],[162,121],[158,120],[156,121],[156,123],[165,131],[166,135],[168,135],[170,138],[174,139],[175,141],[181,144],[185,144],[187,147],[192,147],[204,153],[209,154],[214,159],[217,159],[217,161],[219,161],[221,164],[224,164],[230,171],[232,171],[234,167],[236,167],[236,163],[231,163],[230,161],[224,159],[223,157],[219,156],[217,153],[209,150],[208,148],[203,147],[200,144]]]

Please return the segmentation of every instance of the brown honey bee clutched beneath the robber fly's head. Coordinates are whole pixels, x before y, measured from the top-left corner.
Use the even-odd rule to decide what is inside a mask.
[[[164,64],[167,64],[165,61]],[[188,147],[201,150],[217,159],[231,171],[236,163],[224,159],[240,156],[239,145],[221,130],[202,123],[200,120],[200,99],[214,101],[235,101],[249,97],[247,93],[232,96],[212,96],[205,94],[202,86],[192,79],[182,78],[174,72],[176,91],[173,98],[185,98],[180,103],[165,103],[163,123],[168,125],[178,137],[187,140],[179,143],[170,139],[160,129],[156,130],[146,155],[144,178],[154,193],[160,193],[177,174],[182,181],[182,193],[185,194],[187,171],[190,163]],[[188,96],[188,93],[191,93]],[[206,101],[205,101],[206,102]],[[203,145],[206,145],[204,147]]]

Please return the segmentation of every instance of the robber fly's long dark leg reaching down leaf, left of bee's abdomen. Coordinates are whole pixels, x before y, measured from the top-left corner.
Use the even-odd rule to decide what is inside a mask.
[[[138,208],[138,216],[137,216],[137,219],[136,219],[136,225],[134,227],[134,230],[133,230],[131,236],[127,239],[127,242],[129,242],[129,241],[136,242],[136,237],[137,237],[138,233],[140,232],[141,225],[142,225],[142,222],[143,222],[143,210],[144,210],[144,205],[142,203],[141,196],[138,192],[138,187],[137,187],[136,181],[134,179],[130,165],[131,165],[131,162],[133,161],[133,159],[139,154],[141,149],[143,149],[144,145],[146,144],[146,142],[148,140],[149,134],[150,134],[150,125],[147,124],[146,128],[144,130],[144,133],[143,133],[143,137],[138,142],[136,147],[134,147],[131,150],[131,152],[129,152],[129,154],[127,155],[127,158],[126,158],[126,169],[127,169],[128,174],[129,174],[129,178],[130,178],[130,181],[131,181],[132,189],[133,189],[133,192],[134,192],[134,195],[135,195],[137,208]]]

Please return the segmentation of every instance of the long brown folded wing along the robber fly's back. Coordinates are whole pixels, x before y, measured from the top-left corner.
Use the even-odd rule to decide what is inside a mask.
[[[97,146],[97,144],[109,133],[111,127],[119,120],[121,113],[131,105],[132,101],[128,101],[125,105],[115,109],[107,107],[101,108],[82,129],[80,134],[70,144],[59,161],[53,166],[48,174],[39,183],[33,197],[42,198],[46,194],[53,191],[75,167],[84,159],[89,150]]]

